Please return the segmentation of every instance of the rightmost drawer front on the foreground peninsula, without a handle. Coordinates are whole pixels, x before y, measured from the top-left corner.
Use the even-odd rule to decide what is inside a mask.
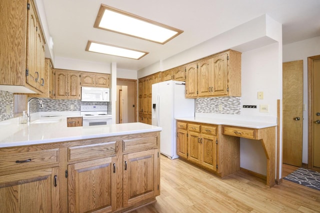
[[[157,137],[123,140],[123,153],[140,152],[158,148]]]

